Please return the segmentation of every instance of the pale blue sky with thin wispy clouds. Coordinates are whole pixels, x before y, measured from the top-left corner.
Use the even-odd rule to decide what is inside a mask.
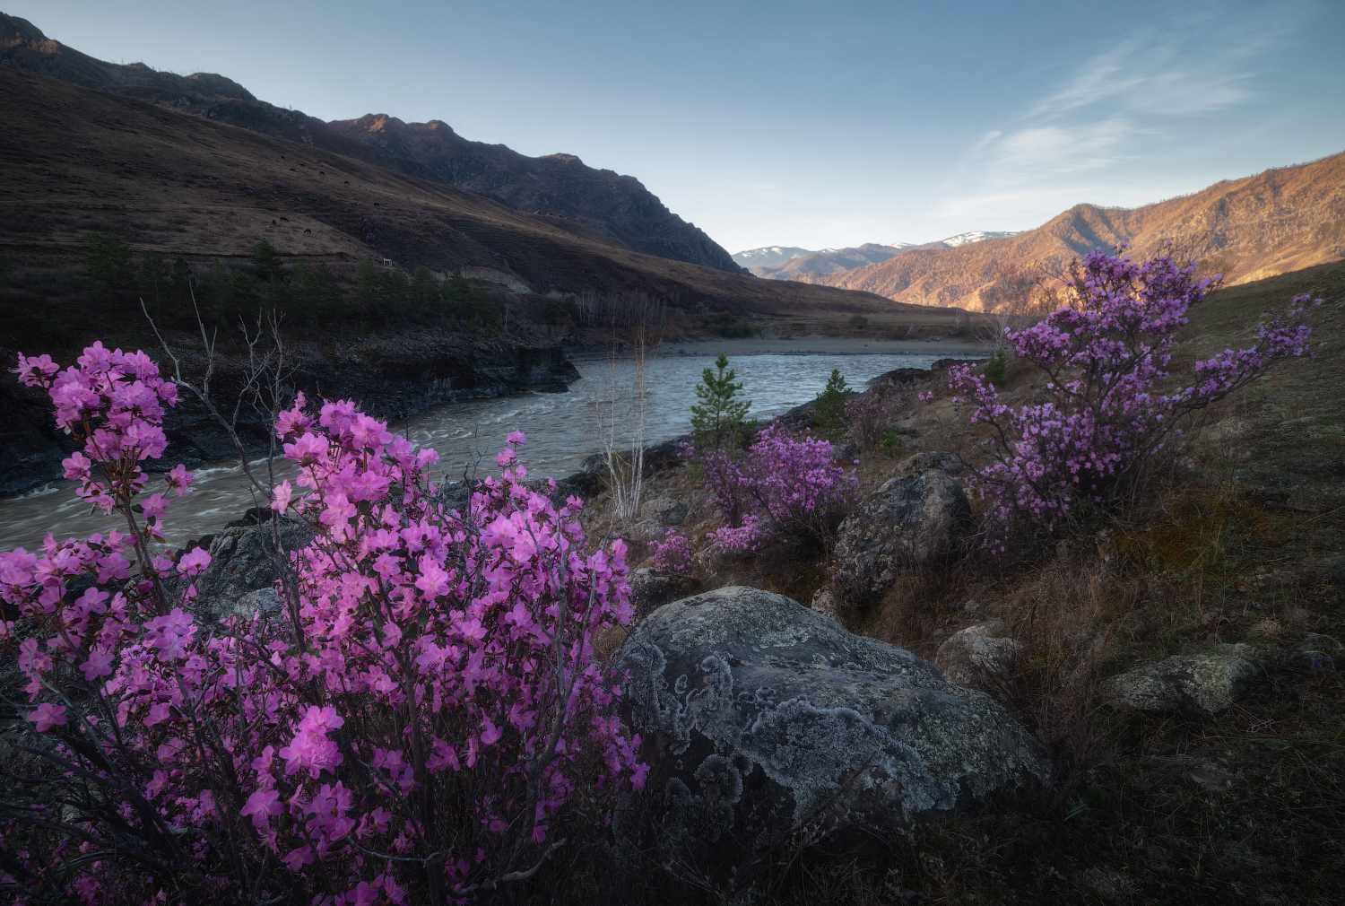
[[[729,252],[1025,230],[1345,151],[1345,3],[5,0],[112,62],[636,176]]]

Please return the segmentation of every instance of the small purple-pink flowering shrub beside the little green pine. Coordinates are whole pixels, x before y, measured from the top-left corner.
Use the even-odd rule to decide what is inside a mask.
[[[757,551],[776,537],[824,537],[838,510],[858,494],[859,481],[831,459],[831,444],[767,425],[745,456],[701,456],[710,503],[725,526],[713,532],[730,551]]]

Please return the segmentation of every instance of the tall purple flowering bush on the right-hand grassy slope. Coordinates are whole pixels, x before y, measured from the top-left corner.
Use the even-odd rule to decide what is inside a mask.
[[[1255,346],[1197,362],[1197,384],[1158,393],[1176,331],[1219,277],[1196,283],[1194,264],[1184,268],[1166,254],[1137,263],[1120,252],[1087,256],[1072,275],[1071,304],[1007,334],[1020,357],[1046,372],[1049,401],[1014,409],[997,403],[994,386],[968,366],[950,370],[952,389],[978,405],[972,424],[991,428],[994,462],[979,479],[995,501],[990,518],[1001,526],[1030,521],[1050,530],[1079,501],[1104,503],[1178,431],[1184,415],[1309,351],[1311,330],[1301,322],[1310,300],[1298,296],[1289,324],[1266,324]]]

